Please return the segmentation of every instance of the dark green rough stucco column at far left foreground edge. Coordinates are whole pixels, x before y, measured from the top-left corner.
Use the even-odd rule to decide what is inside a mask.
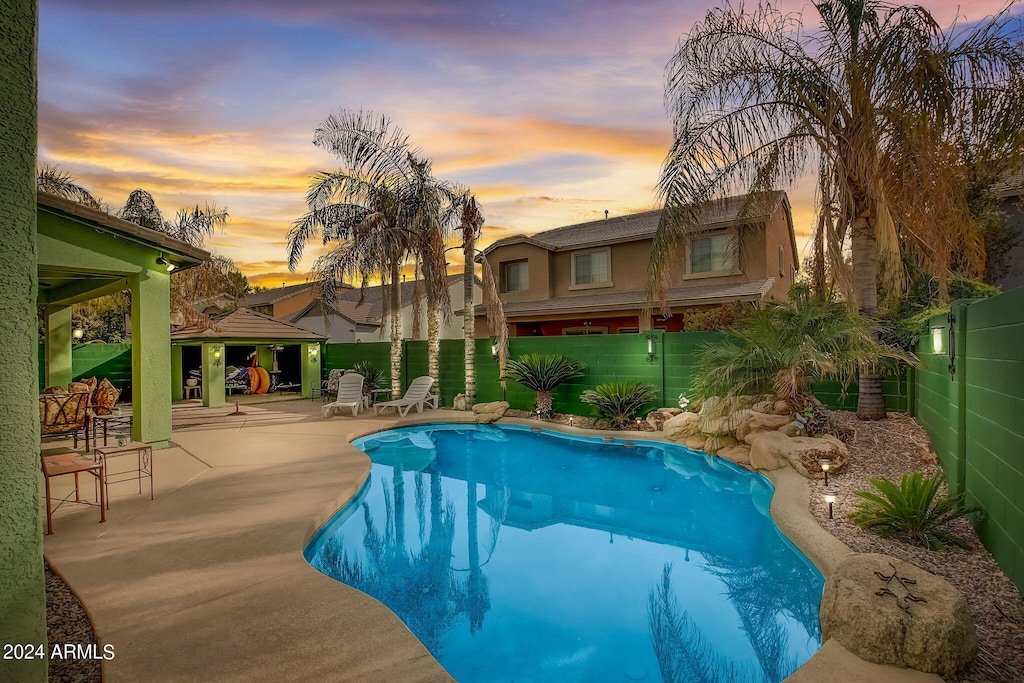
[[[0,643],[45,648],[36,329],[36,2],[2,0],[0,16]],[[0,681],[46,681],[46,659],[0,657]]]

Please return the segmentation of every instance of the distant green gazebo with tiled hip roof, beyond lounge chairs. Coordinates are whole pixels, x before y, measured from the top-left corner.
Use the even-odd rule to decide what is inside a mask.
[[[231,367],[259,367],[275,384],[301,389],[312,396],[321,379],[321,344],[326,335],[306,330],[249,308],[213,316],[206,326],[171,333],[171,388],[175,400],[184,395],[189,371],[202,378],[203,404],[223,405],[224,379]]]

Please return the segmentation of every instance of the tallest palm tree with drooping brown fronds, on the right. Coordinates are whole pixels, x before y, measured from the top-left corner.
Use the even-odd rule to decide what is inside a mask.
[[[1024,58],[1005,9],[971,32],[943,32],[921,6],[817,2],[820,28],[769,5],[711,10],[680,41],[667,100],[675,141],[659,179],[665,211],[648,297],[665,301],[678,247],[700,229],[702,202],[761,194],[817,166],[836,212],[823,252],[852,252],[852,295],[878,313],[879,282],[899,279],[899,247],[940,275],[957,249],[977,253],[963,165],[1016,168],[1024,154]],[[740,219],[742,216],[740,216]],[[872,334],[877,334],[872,333]],[[877,368],[860,371],[858,416],[885,417]]]

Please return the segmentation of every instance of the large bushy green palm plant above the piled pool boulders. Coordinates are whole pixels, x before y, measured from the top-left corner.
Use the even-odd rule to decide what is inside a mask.
[[[815,382],[838,381],[845,390],[862,368],[916,362],[911,354],[874,341],[870,323],[847,303],[802,288],[794,288],[790,296],[790,302],[753,311],[725,331],[725,340],[701,349],[693,378],[700,398],[719,396],[718,410],[726,411],[773,395],[794,412],[810,408],[820,416],[822,409],[811,392]],[[812,425],[821,421],[812,420]],[[809,431],[815,431],[812,425]]]

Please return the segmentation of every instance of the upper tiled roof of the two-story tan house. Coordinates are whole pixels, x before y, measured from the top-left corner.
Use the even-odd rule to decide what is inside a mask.
[[[771,217],[779,204],[788,201],[785,193],[781,190],[767,193],[763,201],[754,201],[751,206],[746,207],[746,213],[741,214],[746,199],[746,195],[740,195],[701,204],[699,209],[701,214],[700,224],[706,228],[713,228],[737,222],[762,222]],[[627,216],[603,218],[586,223],[577,223],[575,225],[565,225],[552,230],[538,232],[530,237],[516,234],[495,242],[484,249],[483,253],[489,254],[499,247],[519,243],[532,244],[549,251],[561,251],[601,244],[642,240],[654,237],[660,218],[662,209],[655,209]],[[796,253],[796,248],[794,248],[794,253]]]

